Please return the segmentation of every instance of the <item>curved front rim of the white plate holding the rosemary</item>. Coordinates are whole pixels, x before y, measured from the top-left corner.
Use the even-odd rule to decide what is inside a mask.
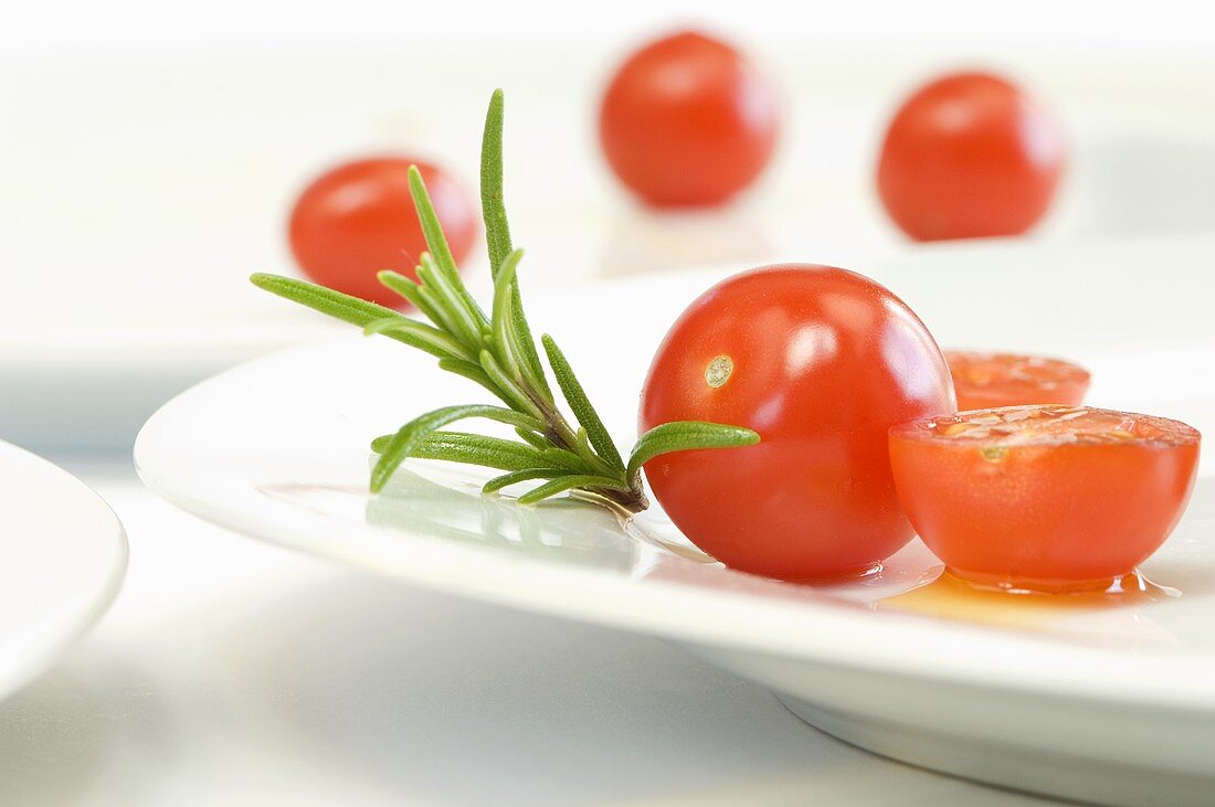
[[[135,466],[141,479],[175,506],[236,533],[456,596],[804,661],[860,666],[956,683],[973,684],[978,681],[989,687],[1066,698],[1100,698],[1120,703],[1132,699],[1159,707],[1200,709],[1215,716],[1215,686],[1211,683],[1215,681],[1215,658],[1143,657],[1101,647],[1035,641],[970,625],[937,624],[912,615],[887,613],[880,620],[868,619],[864,609],[850,613],[849,609],[829,609],[801,602],[784,603],[780,610],[786,615],[784,619],[778,615],[778,621],[790,623],[789,612],[797,612],[803,618],[814,613],[818,619],[799,621],[796,632],[779,633],[772,630],[773,614],[759,613],[770,610],[770,601],[755,595],[697,590],[696,586],[661,580],[637,585],[603,569],[553,564],[486,547],[434,540],[425,546],[430,556],[425,563],[407,564],[402,559],[408,555],[408,547],[401,547],[423,539],[406,532],[391,533],[397,550],[395,553],[368,552],[355,542],[333,541],[327,535],[323,519],[310,519],[283,502],[269,507],[242,506],[239,495],[232,495],[233,490],[226,487],[231,485],[230,481],[215,488],[228,495],[208,496],[190,489],[191,473],[164,472],[162,458],[156,450],[159,433],[166,428],[168,421],[182,411],[188,413],[200,391],[210,393],[233,377],[261,373],[264,366],[289,363],[292,357],[324,349],[339,341],[351,346],[358,343],[352,337],[338,337],[277,351],[220,373],[174,397],[152,415],[136,438]],[[259,504],[264,505],[261,500]],[[458,567],[456,572],[454,567]],[[739,623],[740,614],[747,630],[728,629],[731,623]],[[919,630],[910,631],[914,635],[911,642],[904,629],[910,624],[908,620],[919,625]],[[871,641],[865,646],[849,641],[857,630]],[[960,650],[960,647],[965,649]],[[1018,659],[1024,659],[1027,653],[1039,658],[1039,667],[1041,657],[1050,655],[1052,674],[1027,676],[1025,665],[1018,664]],[[1109,675],[1112,664],[1117,664],[1121,675]]]

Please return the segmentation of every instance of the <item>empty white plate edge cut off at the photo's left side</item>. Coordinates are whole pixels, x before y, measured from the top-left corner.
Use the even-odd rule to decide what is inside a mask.
[[[67,471],[0,442],[0,698],[47,667],[109,607],[126,535]]]

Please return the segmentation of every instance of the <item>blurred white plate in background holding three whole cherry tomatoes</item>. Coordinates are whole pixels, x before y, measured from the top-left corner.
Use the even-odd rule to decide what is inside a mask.
[[[19,69],[0,72],[0,436],[129,445],[190,383],[332,333],[245,282],[292,269],[283,227],[294,194],[335,160],[385,150],[436,158],[475,193],[495,86],[507,90],[507,195],[532,289],[778,258],[872,271],[917,252],[877,204],[875,153],[911,86],[973,66],[973,52],[744,45],[787,102],[774,165],[736,205],[665,215],[626,198],[594,140],[600,86],[628,42],[481,44],[470,53],[414,38],[396,49],[19,58]],[[984,64],[1051,101],[1072,138],[1061,199],[1030,243],[1215,231],[1215,107],[1194,103],[1215,95],[1215,63],[987,53]],[[1101,282],[1132,300],[1154,268],[1121,261]],[[976,272],[995,305],[1017,283],[1016,267]],[[482,258],[468,277],[485,284]]]

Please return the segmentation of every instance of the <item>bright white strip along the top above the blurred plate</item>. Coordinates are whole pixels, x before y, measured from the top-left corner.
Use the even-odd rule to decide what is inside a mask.
[[[792,39],[807,46],[932,44],[953,52],[990,46],[1209,52],[1202,2],[1052,2],[1015,6],[959,0],[922,2],[790,4],[701,0],[611,4],[345,2],[292,4],[216,0],[207,4],[117,0],[46,2],[10,8],[0,46],[9,49],[180,47],[216,42],[334,40],[411,42],[425,38],[454,46],[480,41],[563,39],[605,42],[679,22],[711,23],[744,38]]]

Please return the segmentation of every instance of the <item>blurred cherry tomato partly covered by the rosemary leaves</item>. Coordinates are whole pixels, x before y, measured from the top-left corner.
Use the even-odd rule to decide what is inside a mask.
[[[309,278],[380,305],[403,305],[375,274],[395,269],[416,277],[418,257],[426,251],[409,195],[411,165],[422,172],[456,262],[468,257],[476,210],[446,171],[406,158],[367,159],[315,180],[292,210],[292,252]]]

